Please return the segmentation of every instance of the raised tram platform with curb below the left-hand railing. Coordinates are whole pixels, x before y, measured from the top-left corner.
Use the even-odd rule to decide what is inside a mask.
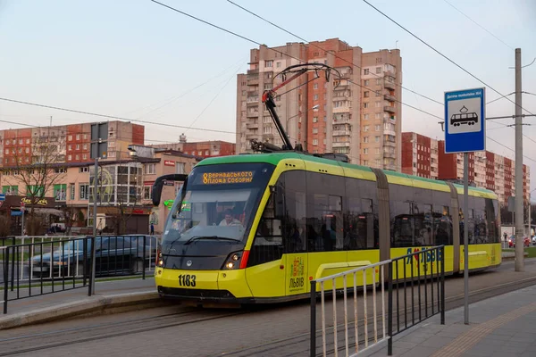
[[[2,314],[0,311],[0,330],[111,309],[127,311],[139,309],[140,305],[157,306],[161,300],[156,293],[153,277],[147,277],[145,280],[141,278],[97,280],[95,284],[96,294],[92,296],[88,296],[86,286],[9,301],[7,314]]]

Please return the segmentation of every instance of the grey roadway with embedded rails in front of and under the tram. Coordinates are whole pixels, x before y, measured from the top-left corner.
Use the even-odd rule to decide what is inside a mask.
[[[536,284],[536,260],[525,262],[523,273],[514,271],[513,262],[504,262],[495,271],[472,275],[471,302]],[[463,278],[447,278],[445,284],[447,309],[463,305]],[[341,301],[339,298],[338,306]],[[330,311],[331,305],[326,307]],[[195,309],[172,304],[4,330],[0,356],[300,356],[308,353],[309,314],[308,302],[247,310]],[[319,322],[317,328],[320,326]],[[339,340],[342,335],[339,333]],[[332,339],[332,335],[328,338]]]

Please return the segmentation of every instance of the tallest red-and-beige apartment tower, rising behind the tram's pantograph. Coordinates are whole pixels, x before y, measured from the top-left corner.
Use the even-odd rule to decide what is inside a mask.
[[[265,90],[281,84],[279,72],[303,62],[337,69],[326,82],[309,72],[281,87],[277,112],[293,144],[309,153],[347,154],[351,162],[389,170],[401,167],[402,59],[399,50],[363,53],[359,46],[332,38],[305,46],[288,43],[250,51],[249,70],[237,78],[237,153],[249,140],[282,145],[261,102]],[[288,55],[283,55],[283,54]],[[292,89],[292,90],[291,90]]]

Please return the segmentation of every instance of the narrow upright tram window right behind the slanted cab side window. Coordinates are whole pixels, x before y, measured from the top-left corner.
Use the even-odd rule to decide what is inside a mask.
[[[307,251],[306,239],[306,172],[293,170],[284,172],[285,215],[283,217],[283,245],[285,253]]]

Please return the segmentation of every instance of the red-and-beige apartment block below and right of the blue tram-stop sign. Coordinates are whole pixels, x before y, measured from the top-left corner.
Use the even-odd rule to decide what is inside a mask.
[[[464,179],[464,154],[445,154],[445,141],[439,141],[440,175],[438,179]],[[500,203],[507,203],[515,195],[515,161],[489,151],[470,153],[469,182],[485,187],[498,195]],[[523,199],[529,200],[530,170],[523,164]]]

